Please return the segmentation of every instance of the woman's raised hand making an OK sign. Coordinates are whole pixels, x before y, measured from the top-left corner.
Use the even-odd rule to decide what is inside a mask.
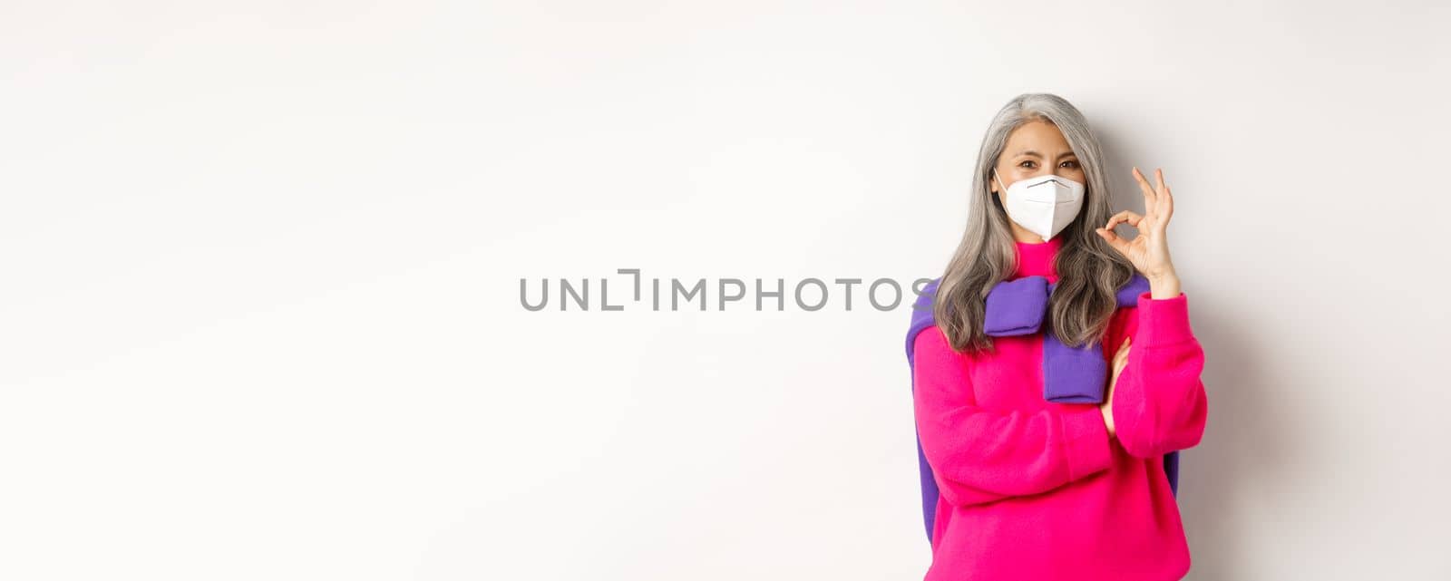
[[[1139,168],[1133,168],[1133,178],[1139,181],[1139,190],[1143,190],[1143,216],[1123,210],[1113,214],[1103,227],[1094,229],[1098,236],[1109,242],[1109,246],[1133,262],[1133,268],[1138,268],[1151,281],[1175,277],[1174,264],[1170,261],[1167,233],[1170,216],[1174,216],[1174,194],[1170,193],[1168,185],[1164,185],[1164,170],[1155,170],[1154,174],[1159,183],[1158,188],[1149,187]],[[1139,235],[1132,241],[1119,238],[1113,227],[1120,222],[1127,222],[1139,229]]]

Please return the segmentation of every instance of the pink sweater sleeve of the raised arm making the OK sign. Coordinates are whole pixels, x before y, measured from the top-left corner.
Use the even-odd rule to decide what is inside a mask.
[[[1200,372],[1204,349],[1188,325],[1188,297],[1139,294],[1126,322],[1129,362],[1113,391],[1119,443],[1139,458],[1193,448],[1204,435],[1209,400]],[[1113,354],[1107,354],[1111,361]]]

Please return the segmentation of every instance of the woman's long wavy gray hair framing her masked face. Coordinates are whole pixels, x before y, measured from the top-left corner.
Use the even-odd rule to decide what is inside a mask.
[[[937,326],[958,352],[992,349],[992,339],[982,329],[985,301],[988,291],[1017,269],[1017,248],[1007,210],[992,196],[988,181],[1007,146],[1008,135],[1033,120],[1046,120],[1058,128],[1077,154],[1088,181],[1078,217],[1059,233],[1064,238],[1062,246],[1053,261],[1058,284],[1049,297],[1045,326],[1064,345],[1081,348],[1100,342],[1109,317],[1117,309],[1119,287],[1133,277],[1133,264],[1094,232],[1109,223],[1113,213],[1109,207],[1103,152],[1088,122],[1059,96],[1020,94],[998,110],[982,136],[978,164],[972,172],[968,227],[942,274],[933,301]]]

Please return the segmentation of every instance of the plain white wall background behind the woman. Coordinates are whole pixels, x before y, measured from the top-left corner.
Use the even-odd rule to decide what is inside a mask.
[[[936,277],[990,117],[1052,91],[1116,209],[1175,191],[1190,578],[1445,580],[1448,22],[6,1],[0,578],[920,578],[905,307],[615,269]],[[601,277],[622,312],[519,304]]]

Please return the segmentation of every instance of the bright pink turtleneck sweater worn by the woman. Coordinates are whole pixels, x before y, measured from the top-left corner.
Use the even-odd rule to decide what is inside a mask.
[[[1061,238],[1019,242],[1013,278],[1056,281]],[[1188,543],[1164,474],[1167,452],[1204,433],[1204,352],[1188,298],[1122,307],[1103,343],[1130,336],[1113,391],[1116,436],[1096,404],[1043,400],[1042,332],[994,338],[997,352],[953,352],[942,330],[917,335],[914,407],[940,488],[926,581],[1180,580]],[[1046,322],[1045,322],[1046,325]]]

